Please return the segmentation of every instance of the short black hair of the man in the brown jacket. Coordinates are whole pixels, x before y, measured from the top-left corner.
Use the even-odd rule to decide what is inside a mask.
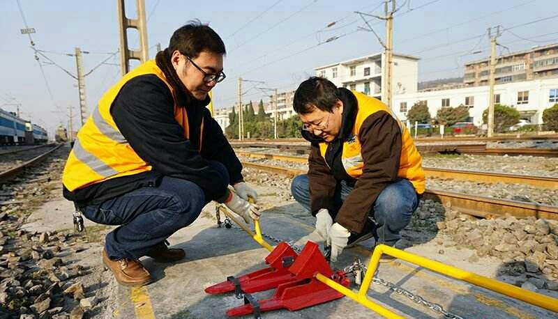
[[[293,99],[293,109],[298,114],[308,114],[317,107],[331,113],[333,106],[339,100],[338,89],[324,77],[310,77],[303,81],[296,89]]]

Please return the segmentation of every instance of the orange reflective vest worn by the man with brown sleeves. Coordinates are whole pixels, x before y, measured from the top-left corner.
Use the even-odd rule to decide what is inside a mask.
[[[359,132],[364,120],[368,116],[375,114],[377,111],[386,111],[397,120],[400,130],[402,132],[402,149],[399,164],[398,177],[407,178],[412,182],[414,189],[418,194],[423,194],[425,189],[425,177],[422,169],[422,157],[416,150],[409,130],[403,125],[393,112],[386,107],[382,101],[371,98],[368,95],[352,91],[358,102],[359,111],[356,113],[356,120],[353,126],[352,134],[356,137],[343,143],[343,151],[341,160],[345,171],[352,178],[359,178],[362,175],[364,161],[361,154],[362,146],[359,141]],[[325,158],[328,143],[319,143],[319,150],[322,157]]]

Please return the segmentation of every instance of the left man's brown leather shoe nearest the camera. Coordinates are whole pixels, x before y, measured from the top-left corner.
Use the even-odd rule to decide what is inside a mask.
[[[103,263],[107,266],[114,278],[124,286],[144,286],[151,282],[149,272],[139,260],[122,258],[111,260],[107,251],[103,249]]]

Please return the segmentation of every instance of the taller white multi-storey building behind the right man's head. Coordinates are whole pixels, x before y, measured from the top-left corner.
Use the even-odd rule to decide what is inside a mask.
[[[360,91],[381,100],[386,100],[384,70],[386,65],[384,53],[377,53],[361,58],[315,68],[318,77],[326,77],[335,84],[350,90]],[[415,93],[418,84],[418,58],[404,54],[393,54],[393,94]]]

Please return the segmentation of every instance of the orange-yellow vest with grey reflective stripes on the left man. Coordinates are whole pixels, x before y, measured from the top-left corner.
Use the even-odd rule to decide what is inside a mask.
[[[93,110],[80,132],[77,133],[74,147],[70,152],[62,176],[62,182],[70,192],[112,178],[151,171],[151,165],[144,162],[135,153],[110,115],[112,102],[124,84],[140,75],[156,75],[167,84],[174,98],[172,86],[153,60],[135,68],[112,86],[100,99],[98,107]],[[188,139],[188,114],[186,114],[185,108],[178,107],[176,98],[174,99],[174,118],[183,127],[184,137]],[[203,120],[200,130],[203,130]],[[199,147],[201,148],[202,132],[199,136]]]

